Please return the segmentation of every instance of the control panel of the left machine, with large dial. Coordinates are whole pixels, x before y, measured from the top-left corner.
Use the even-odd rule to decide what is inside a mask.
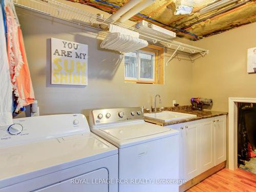
[[[10,125],[0,126],[0,147],[89,132],[87,119],[82,114],[17,118]]]

